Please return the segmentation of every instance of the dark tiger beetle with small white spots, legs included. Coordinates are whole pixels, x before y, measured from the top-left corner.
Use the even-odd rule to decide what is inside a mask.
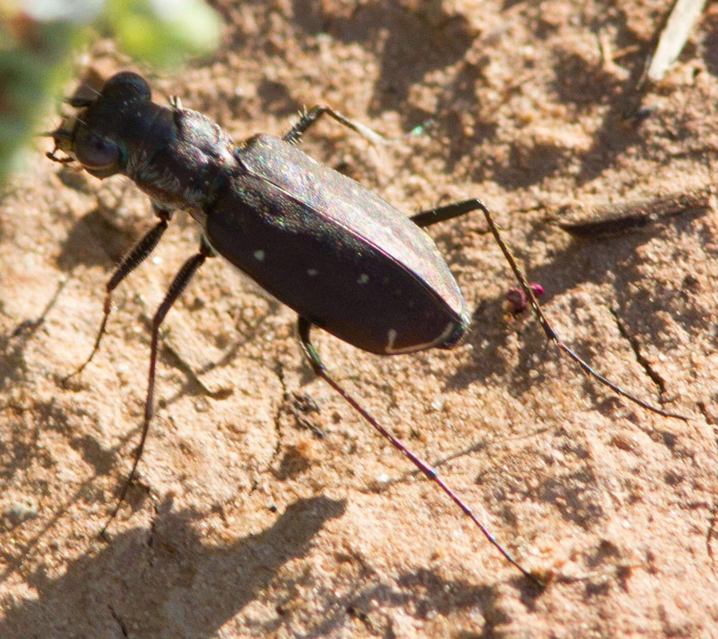
[[[452,203],[408,218],[355,180],[299,150],[302,134],[323,115],[371,141],[383,140],[329,107],[305,111],[281,139],[256,134],[235,144],[218,124],[183,108],[178,98],[170,98],[169,106],[154,104],[148,84],[136,73],[113,75],[96,96],[70,98],[69,104],[81,111],[45,134],[55,142],[47,157],[56,162],[77,161],[96,178],[126,175],[147,193],[159,219],[108,281],[95,344],[73,375],[98,350],[113,290],[157,246],[173,211],[185,208],[202,225],[199,252],[177,272],[152,319],[141,438],[103,535],[126,497],[146,441],[153,413],[159,327],[197,269],[216,254],[297,312],[299,343],[314,373],[437,484],[510,564],[538,586],[542,585],[538,577],[500,546],[434,469],[335,382],[309,339],[312,326],[380,355],[456,346],[469,327],[470,313],[424,228],[478,210],[549,341],[617,394],[659,415],[685,419],[621,390],[559,339],[482,202]],[[57,152],[64,155],[58,157]]]

